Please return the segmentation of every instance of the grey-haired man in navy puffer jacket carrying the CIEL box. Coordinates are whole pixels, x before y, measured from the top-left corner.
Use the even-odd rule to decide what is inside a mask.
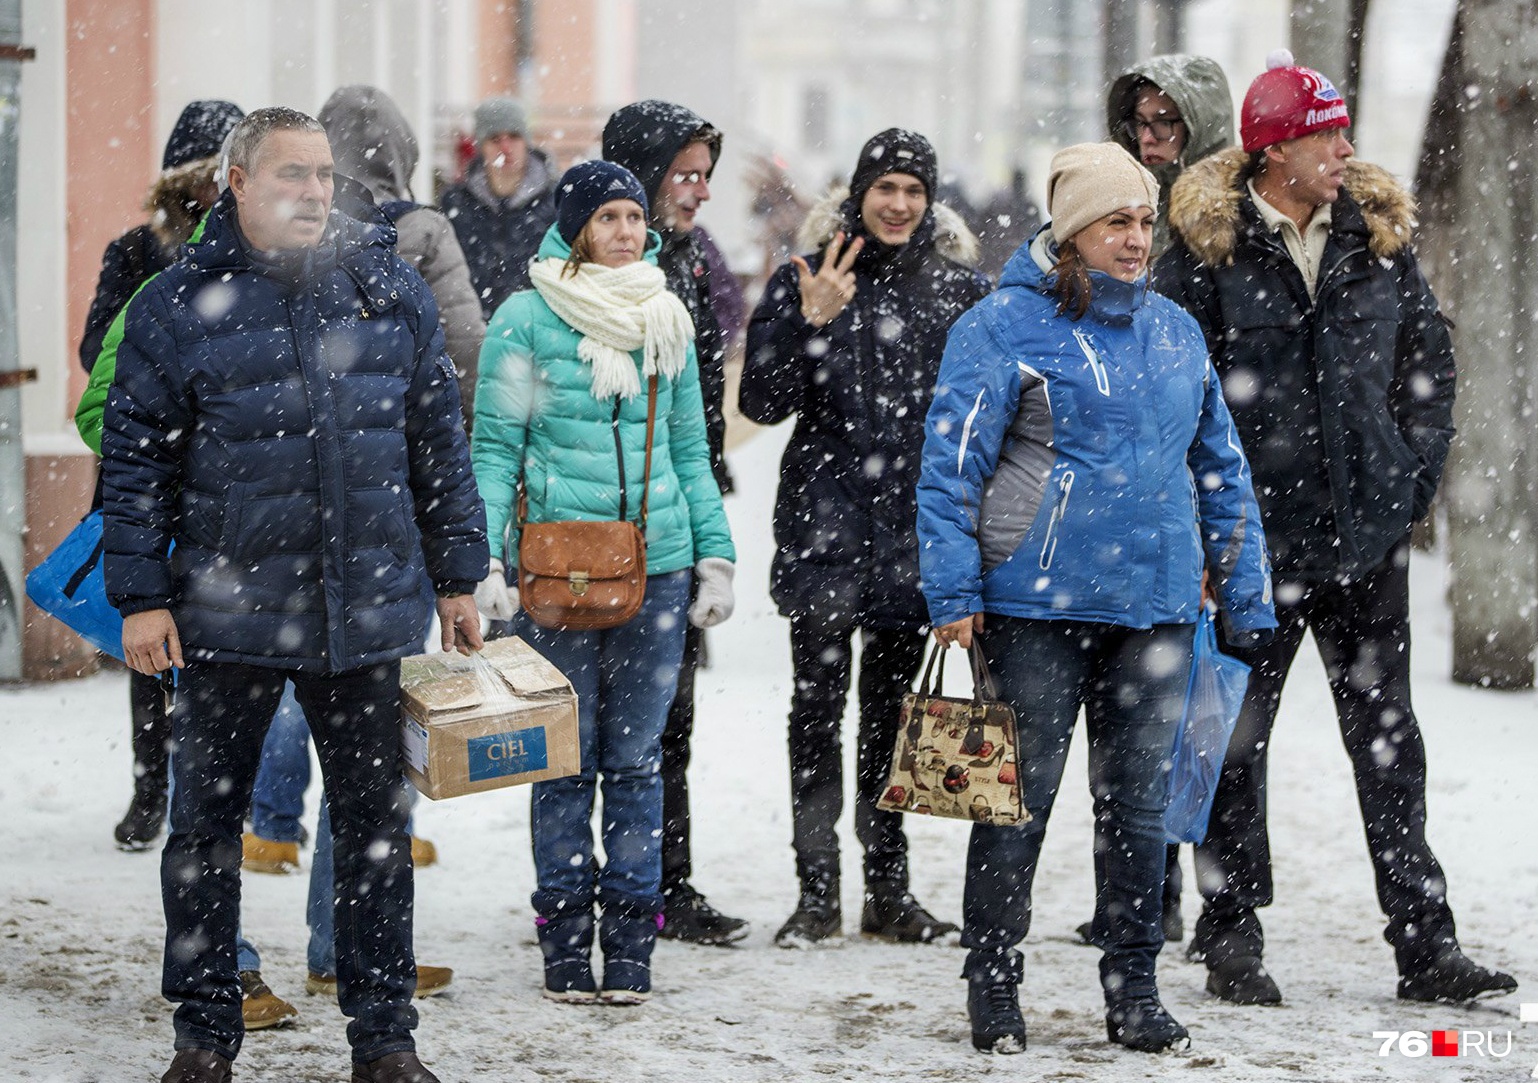
[[[240,829],[286,680],[331,805],[354,1080],[434,1080],[411,1037],[400,658],[424,577],[444,649],[480,646],[486,517],[432,294],[389,226],[331,203],[320,123],[246,117],[203,240],[129,306],[106,406],[125,657],[181,669],[161,866],[175,1083],[228,1080],[240,1048]]]

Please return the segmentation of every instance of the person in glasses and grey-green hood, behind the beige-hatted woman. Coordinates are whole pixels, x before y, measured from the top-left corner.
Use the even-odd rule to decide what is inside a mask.
[[[1154,222],[1157,260],[1169,248],[1169,194],[1175,182],[1195,163],[1233,146],[1233,97],[1227,75],[1207,57],[1150,57],[1110,85],[1106,128],[1110,138],[1160,183]],[[1178,883],[1175,898],[1180,898]]]

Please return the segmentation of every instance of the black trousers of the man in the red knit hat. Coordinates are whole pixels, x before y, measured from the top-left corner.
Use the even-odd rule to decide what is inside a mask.
[[[1197,848],[1206,898],[1195,946],[1207,965],[1264,948],[1255,909],[1269,906],[1266,754],[1281,688],[1304,631],[1324,658],[1341,740],[1357,778],[1378,905],[1400,972],[1456,945],[1447,883],[1426,843],[1426,746],[1410,709],[1409,540],[1352,580],[1277,585],[1277,637],[1233,651],[1253,666],[1244,709],[1218,778],[1207,840]]]

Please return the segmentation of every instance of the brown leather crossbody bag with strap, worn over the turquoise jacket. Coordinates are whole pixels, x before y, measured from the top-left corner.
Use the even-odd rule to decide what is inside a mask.
[[[646,600],[646,503],[657,429],[657,377],[646,388],[646,472],[640,518],[626,515],[624,446],[620,398],[614,400],[614,451],[620,458],[620,517],[528,523],[528,495],[518,485],[518,598],[541,628],[591,632],[617,628]]]

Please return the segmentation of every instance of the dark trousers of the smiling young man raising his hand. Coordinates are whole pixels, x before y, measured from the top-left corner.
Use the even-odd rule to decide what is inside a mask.
[[[886,788],[897,743],[903,694],[924,660],[917,631],[791,621],[791,823],[797,874],[803,885],[838,877],[835,825],[844,808],[844,757],[840,725],[854,668],[851,637],[860,632],[860,735],[855,835],[864,848],[866,883],[907,888],[907,837],[903,815],[875,803]]]

